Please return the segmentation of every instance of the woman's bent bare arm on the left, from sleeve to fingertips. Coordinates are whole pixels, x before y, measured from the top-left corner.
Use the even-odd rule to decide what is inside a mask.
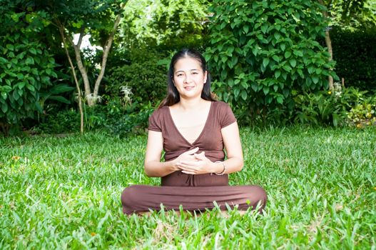
[[[161,162],[163,150],[163,136],[161,132],[148,131],[148,146],[146,146],[146,156],[144,161],[145,174],[149,177],[163,177],[175,171],[178,168],[178,162],[182,160],[195,160],[195,152],[198,148],[186,151],[173,161]]]

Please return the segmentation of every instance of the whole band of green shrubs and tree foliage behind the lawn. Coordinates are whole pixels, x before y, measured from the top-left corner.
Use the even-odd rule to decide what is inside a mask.
[[[206,51],[214,91],[230,102],[240,124],[372,124],[372,96],[358,101],[352,90],[340,98],[326,94],[333,64],[322,46],[327,22],[340,27],[330,31],[335,72],[346,87],[372,94],[375,1],[324,0],[327,9],[318,2],[2,0],[0,133],[8,134],[10,126],[52,134],[76,131],[77,90],[60,31],[75,64],[73,34],[90,34],[91,45],[103,47],[122,11],[100,96],[94,97],[103,101],[94,109],[83,107],[88,130],[122,136],[143,131],[147,114],[165,96],[166,64],[182,47]],[[83,63],[81,70],[75,64],[78,85],[82,90],[85,85],[88,101],[103,51],[81,46],[76,56]],[[132,94],[126,97],[124,87]]]

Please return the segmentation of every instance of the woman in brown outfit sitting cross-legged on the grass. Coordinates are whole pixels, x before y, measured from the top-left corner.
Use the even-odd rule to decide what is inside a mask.
[[[227,159],[225,160],[225,148]],[[165,161],[161,162],[162,151]],[[238,124],[228,104],[215,101],[210,75],[198,51],[183,49],[171,60],[168,94],[149,119],[146,175],[161,186],[129,186],[121,195],[125,214],[161,209],[205,211],[214,201],[261,211],[259,186],[228,186],[228,174],[243,168]]]

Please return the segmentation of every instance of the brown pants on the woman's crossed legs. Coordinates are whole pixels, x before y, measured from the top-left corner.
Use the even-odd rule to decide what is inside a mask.
[[[205,211],[213,209],[216,202],[221,210],[226,204],[238,205],[239,210],[265,207],[267,196],[260,186],[129,186],[121,194],[124,214],[133,214],[151,210],[164,209],[176,211],[180,206],[186,211]]]

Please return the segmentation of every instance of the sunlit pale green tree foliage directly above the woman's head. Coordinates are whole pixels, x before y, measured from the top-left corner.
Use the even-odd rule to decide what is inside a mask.
[[[131,0],[125,10],[121,39],[126,48],[140,44],[166,49],[200,47],[205,39],[208,1]]]

